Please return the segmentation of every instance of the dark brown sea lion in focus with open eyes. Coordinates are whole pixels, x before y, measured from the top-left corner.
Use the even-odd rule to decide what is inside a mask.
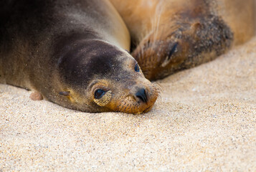
[[[5,1],[0,82],[88,113],[146,113],[158,87],[146,80],[123,20],[106,0]]]

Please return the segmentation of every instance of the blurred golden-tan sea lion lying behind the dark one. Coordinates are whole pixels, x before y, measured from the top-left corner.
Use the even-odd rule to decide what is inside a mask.
[[[149,80],[209,62],[255,32],[255,0],[110,1]]]

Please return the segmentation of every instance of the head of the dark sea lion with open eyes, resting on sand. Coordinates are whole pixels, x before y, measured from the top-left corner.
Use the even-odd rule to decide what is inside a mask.
[[[158,97],[158,87],[144,77],[131,54],[100,39],[69,45],[57,71],[60,87],[55,101],[68,108],[138,114],[151,110]]]

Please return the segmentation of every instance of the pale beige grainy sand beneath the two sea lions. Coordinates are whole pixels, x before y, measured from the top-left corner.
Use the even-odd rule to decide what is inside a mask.
[[[0,85],[0,171],[256,171],[256,37],[158,83],[143,115],[82,113]]]

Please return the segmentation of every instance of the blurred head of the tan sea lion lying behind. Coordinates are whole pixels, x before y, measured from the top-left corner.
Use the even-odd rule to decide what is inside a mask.
[[[209,62],[232,45],[231,29],[204,1],[176,1],[176,6],[156,12],[161,17],[132,52],[148,80]]]

